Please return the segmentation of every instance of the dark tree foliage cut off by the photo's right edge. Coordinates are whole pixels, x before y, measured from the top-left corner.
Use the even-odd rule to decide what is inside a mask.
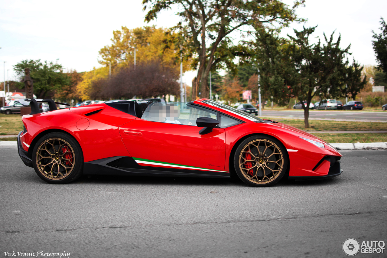
[[[380,17],[382,21],[380,21],[379,29],[382,30],[382,33],[376,34],[372,31],[372,38],[376,39],[372,41],[373,50],[375,51],[376,59],[379,63],[378,68],[386,73],[387,80],[387,25],[382,17]]]

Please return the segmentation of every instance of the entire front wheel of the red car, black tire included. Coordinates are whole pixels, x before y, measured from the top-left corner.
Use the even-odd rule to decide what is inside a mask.
[[[258,148],[251,148],[252,143],[255,145],[251,146],[258,146]],[[265,155],[268,158],[265,158]],[[246,158],[250,158],[252,162],[246,161]],[[276,138],[265,134],[251,136],[242,141],[234,155],[236,174],[245,184],[254,187],[277,184],[286,174],[288,163],[288,153],[283,144]]]

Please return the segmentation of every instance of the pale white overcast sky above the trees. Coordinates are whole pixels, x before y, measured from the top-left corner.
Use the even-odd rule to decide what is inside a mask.
[[[3,81],[4,61],[7,61],[5,73],[9,69],[10,79],[15,79],[13,65],[24,59],[55,61],[59,58],[63,67],[79,72],[100,67],[98,51],[110,44],[113,30],[147,25],[141,2],[1,0],[0,81]],[[175,13],[176,10],[165,11],[149,24],[174,26],[179,21]],[[297,14],[308,21],[292,24],[292,28],[318,25],[315,36],[320,37],[323,32],[330,35],[336,30],[337,35],[341,33],[342,47],[351,44],[352,56],[358,62],[377,64],[371,30],[379,33],[380,17],[387,19],[386,0],[307,0]],[[187,72],[183,80],[191,85],[194,74]]]

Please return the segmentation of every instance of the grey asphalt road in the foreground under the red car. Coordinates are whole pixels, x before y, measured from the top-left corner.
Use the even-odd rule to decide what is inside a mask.
[[[387,243],[387,150],[342,154],[339,177],[267,188],[113,176],[50,185],[2,147],[0,257],[347,257],[350,237]]]

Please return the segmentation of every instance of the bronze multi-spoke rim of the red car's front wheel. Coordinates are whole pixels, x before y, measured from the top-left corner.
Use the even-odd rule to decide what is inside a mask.
[[[249,141],[241,148],[238,162],[243,177],[254,185],[262,186],[274,184],[280,175],[283,176],[281,172],[285,167],[283,151],[270,139]]]

